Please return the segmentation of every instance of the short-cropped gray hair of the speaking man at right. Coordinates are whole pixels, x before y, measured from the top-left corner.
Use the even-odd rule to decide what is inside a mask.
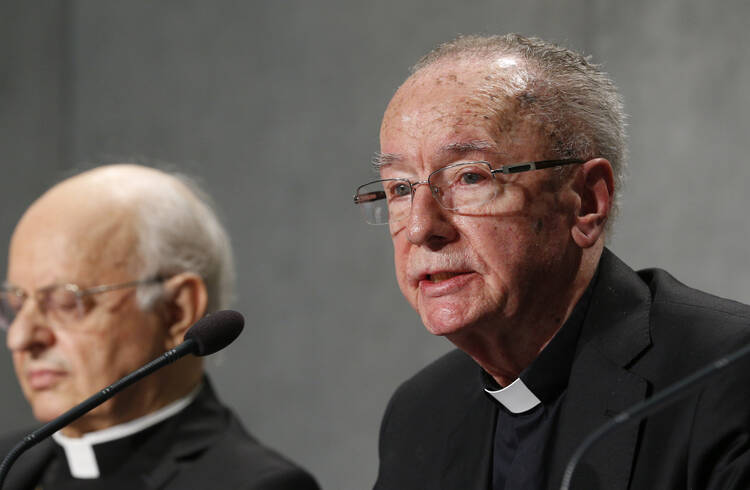
[[[626,116],[617,87],[599,65],[542,39],[507,34],[458,37],[425,55],[412,67],[412,73],[442,60],[487,60],[499,55],[524,62],[525,67],[519,70],[525,83],[495,88],[515,98],[521,111],[544,125],[555,156],[603,157],[612,164],[615,196],[609,225],[619,211],[627,166]]]

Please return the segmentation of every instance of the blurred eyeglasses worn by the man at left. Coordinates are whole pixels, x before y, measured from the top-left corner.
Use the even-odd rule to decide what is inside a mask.
[[[34,297],[42,314],[48,316],[56,325],[67,326],[83,318],[91,306],[90,297],[94,294],[160,283],[163,280],[155,277],[88,289],[81,289],[76,284],[53,284],[37,289],[31,296]],[[10,328],[29,296],[29,293],[16,286],[0,286],[0,330]]]

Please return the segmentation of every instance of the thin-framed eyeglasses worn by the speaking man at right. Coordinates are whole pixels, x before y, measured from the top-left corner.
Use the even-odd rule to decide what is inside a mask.
[[[361,185],[354,195],[354,204],[362,210],[371,225],[385,225],[409,215],[417,186],[427,184],[432,197],[445,209],[455,212],[477,212],[495,199],[505,183],[497,174],[510,175],[563,165],[584,163],[584,160],[542,160],[515,163],[493,169],[489,162],[465,162],[448,165],[432,172],[427,180],[380,179]]]

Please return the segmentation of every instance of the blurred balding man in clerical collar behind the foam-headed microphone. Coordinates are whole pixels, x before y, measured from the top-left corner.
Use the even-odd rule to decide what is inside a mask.
[[[187,180],[112,165],[54,186],[18,223],[0,293],[34,416],[48,421],[176,346],[231,287],[227,233]],[[4,438],[3,454],[20,438]],[[318,487],[245,432],[188,356],[23,455],[4,488]]]

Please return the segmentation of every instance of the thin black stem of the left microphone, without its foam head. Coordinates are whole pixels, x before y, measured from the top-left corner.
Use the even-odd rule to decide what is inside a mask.
[[[124,390],[125,388],[132,385],[133,383],[140,380],[141,378],[148,376],[149,374],[166,366],[167,364],[171,364],[177,361],[178,359],[185,357],[187,354],[193,353],[196,347],[197,347],[197,343],[195,340],[186,339],[183,343],[181,343],[177,347],[168,350],[167,352],[157,357],[153,361],[149,362],[148,364],[145,364],[144,366],[140,367],[136,371],[133,371],[132,373],[125,376],[124,378],[121,378],[115,381],[111,385],[101,390],[99,393],[96,393],[95,395],[90,396],[89,398],[85,399],[84,401],[82,401],[75,407],[71,408],[64,414],[60,415],[59,417],[53,420],[50,420],[46,424],[36,429],[31,434],[24,437],[21,442],[16,444],[13,447],[13,449],[11,449],[11,451],[8,453],[5,459],[3,459],[3,462],[0,463],[0,488],[2,488],[3,486],[3,482],[5,481],[5,477],[8,471],[10,470],[11,465],[15,462],[16,459],[18,459],[18,457],[24,451],[34,447],[45,438],[51,436],[52,434],[62,429],[66,425],[70,424],[74,420],[78,419],[79,417],[87,413],[88,411],[93,410],[94,408],[98,407],[99,405],[109,400],[110,398],[115,396],[117,393]]]

